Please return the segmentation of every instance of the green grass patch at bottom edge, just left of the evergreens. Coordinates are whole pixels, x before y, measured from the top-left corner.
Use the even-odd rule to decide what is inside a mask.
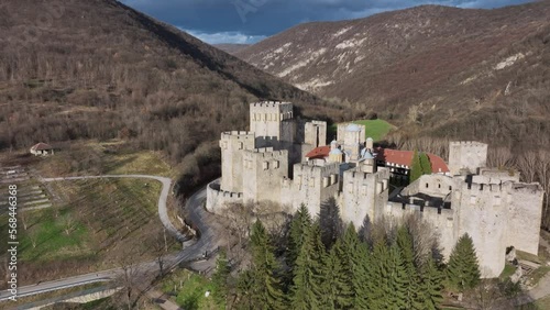
[[[177,269],[166,277],[162,289],[166,294],[175,295],[176,303],[184,309],[224,309],[223,306],[216,305],[212,295],[205,297],[207,290],[213,290],[212,284],[186,269]]]

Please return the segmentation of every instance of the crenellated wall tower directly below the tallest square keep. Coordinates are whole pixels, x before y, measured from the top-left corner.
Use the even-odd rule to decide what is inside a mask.
[[[279,202],[280,181],[288,177],[288,151],[255,148],[245,151],[243,157],[244,201]]]

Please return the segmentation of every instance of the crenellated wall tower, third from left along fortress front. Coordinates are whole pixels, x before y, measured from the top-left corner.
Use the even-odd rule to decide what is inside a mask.
[[[311,215],[319,214],[321,203],[338,192],[339,164],[326,163],[323,166],[316,166],[312,163],[300,163],[293,168],[293,207],[297,210],[304,203]]]

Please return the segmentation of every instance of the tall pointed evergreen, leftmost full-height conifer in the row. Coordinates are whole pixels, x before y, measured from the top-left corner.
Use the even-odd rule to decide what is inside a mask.
[[[270,236],[260,220],[252,225],[252,301],[256,309],[282,309],[284,296],[275,277],[278,264]]]

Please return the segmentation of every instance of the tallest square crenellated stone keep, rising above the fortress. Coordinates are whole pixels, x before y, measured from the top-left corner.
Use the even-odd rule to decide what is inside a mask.
[[[278,147],[294,142],[293,103],[264,101],[250,104],[250,131],[256,147]]]

